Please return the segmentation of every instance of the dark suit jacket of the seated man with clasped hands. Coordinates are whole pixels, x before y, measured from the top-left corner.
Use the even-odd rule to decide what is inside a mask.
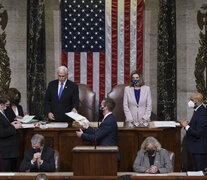
[[[37,163],[31,164],[33,158],[33,149],[30,148],[24,152],[24,159],[20,165],[20,171],[30,171],[37,172]],[[54,159],[54,150],[49,147],[44,147],[41,154],[41,159],[43,160],[42,165],[40,165],[41,172],[54,172],[55,171],[55,159]]]

